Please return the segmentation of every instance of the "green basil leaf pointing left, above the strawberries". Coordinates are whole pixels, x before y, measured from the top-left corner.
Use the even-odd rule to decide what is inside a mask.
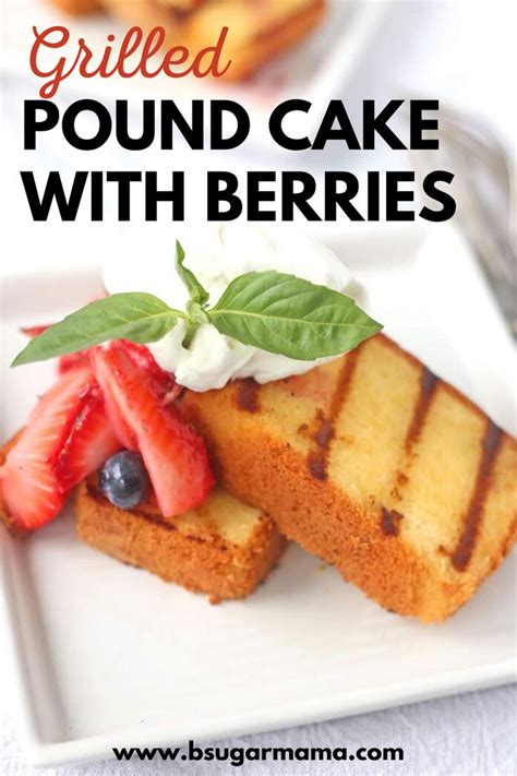
[[[152,294],[113,294],[67,315],[32,339],[12,367],[67,353],[85,350],[108,339],[156,342],[170,332],[183,312],[172,310]]]

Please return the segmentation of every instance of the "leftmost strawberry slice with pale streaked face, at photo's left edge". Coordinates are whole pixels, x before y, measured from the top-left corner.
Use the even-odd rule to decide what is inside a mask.
[[[89,367],[63,374],[39,399],[9,451],[0,479],[5,510],[16,527],[38,528],[61,510],[64,494],[50,458],[70,432],[82,391],[93,380]]]

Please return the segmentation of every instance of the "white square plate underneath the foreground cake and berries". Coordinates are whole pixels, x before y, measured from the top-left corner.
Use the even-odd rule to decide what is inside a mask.
[[[388,333],[514,430],[515,351],[462,241],[437,228],[414,254],[402,236],[349,238]],[[55,320],[99,290],[76,270],[8,277],[2,439],[52,367],[9,371],[19,326]],[[515,678],[515,556],[441,625],[390,614],[291,546],[248,600],[206,599],[81,545],[64,514],[1,541],[4,599],[27,757],[105,757],[111,747],[183,743],[366,712]]]

